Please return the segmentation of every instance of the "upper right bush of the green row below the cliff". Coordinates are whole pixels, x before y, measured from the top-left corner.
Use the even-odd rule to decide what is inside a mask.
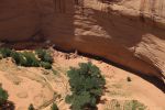
[[[35,51],[36,55],[38,58],[41,58],[42,62],[46,62],[52,64],[53,63],[53,57],[51,56],[51,53],[46,50],[36,50]]]

